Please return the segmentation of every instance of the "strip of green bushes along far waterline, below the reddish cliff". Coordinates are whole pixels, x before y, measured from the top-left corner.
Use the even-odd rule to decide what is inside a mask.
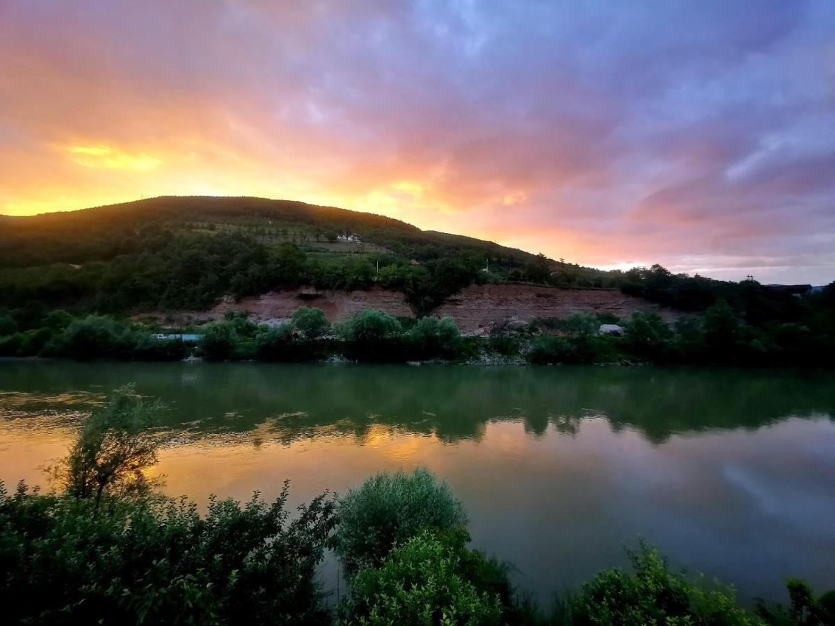
[[[452,318],[395,318],[363,310],[331,325],[317,308],[300,308],[278,326],[258,325],[242,313],[196,326],[194,351],[209,361],[427,361],[719,364],[735,366],[832,366],[835,285],[807,298],[807,323],[743,319],[726,300],[701,316],[667,324],[655,313],[627,320],[577,313],[566,319],[494,326],[488,336],[462,336]],[[601,324],[620,323],[623,336],[600,335]],[[34,325],[34,327],[33,327]],[[826,326],[827,330],[821,330]],[[33,314],[0,313],[0,356],[57,356],[135,361],[179,360],[192,350],[178,339],[164,340],[156,324],[119,321],[112,316],[73,316],[65,310]],[[177,329],[179,332],[180,329]]]

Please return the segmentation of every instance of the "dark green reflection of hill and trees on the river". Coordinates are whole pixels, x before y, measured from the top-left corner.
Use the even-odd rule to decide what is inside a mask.
[[[130,363],[0,364],[0,411],[38,415],[94,406],[125,381],[170,406],[180,436],[254,433],[292,442],[366,437],[384,424],[445,442],[476,439],[487,422],[577,431],[602,416],[652,443],[671,435],[757,428],[787,416],[835,415],[827,372],[448,366],[268,366]]]

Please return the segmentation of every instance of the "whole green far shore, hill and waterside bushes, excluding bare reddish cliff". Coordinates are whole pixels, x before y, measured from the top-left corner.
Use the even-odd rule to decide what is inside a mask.
[[[338,240],[339,234],[352,232],[364,243]],[[219,340],[215,346],[226,347],[205,354],[286,361],[334,354],[357,360],[468,361],[487,352],[521,355],[534,363],[832,364],[835,284],[797,298],[756,280],[674,275],[660,265],[595,270],[332,207],[170,197],[3,220],[0,356],[176,359],[184,355],[183,346],[152,341],[153,328],[122,320],[144,310],[205,310],[225,295],[240,298],[300,285],[399,290],[418,318],[425,318],[468,285],[507,281],[620,289],[693,316],[675,327],[643,314],[620,321],[627,326],[624,341],[596,336],[590,332],[593,318],[575,316],[498,328],[483,341],[433,339],[427,345],[415,340],[422,331],[412,333],[414,321],[372,311],[345,322],[344,332],[337,328],[316,338],[301,327],[272,331],[263,337],[261,351],[256,337],[266,331],[230,320],[229,328],[207,329]],[[600,321],[614,320],[598,319],[595,326]],[[353,332],[352,326],[363,330]],[[453,336],[446,326],[438,332]]]

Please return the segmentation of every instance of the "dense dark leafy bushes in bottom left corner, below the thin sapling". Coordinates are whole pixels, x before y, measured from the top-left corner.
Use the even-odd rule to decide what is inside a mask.
[[[316,583],[334,504],[92,502],[0,485],[7,623],[329,623]]]

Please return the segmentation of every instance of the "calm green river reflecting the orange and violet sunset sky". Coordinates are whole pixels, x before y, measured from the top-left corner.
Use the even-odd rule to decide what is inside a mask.
[[[430,467],[543,602],[645,538],[783,599],[835,588],[835,376],[655,368],[0,362],[0,479],[43,482],[128,381],[170,407],[165,491],[294,502]],[[335,583],[332,567],[322,573]]]

